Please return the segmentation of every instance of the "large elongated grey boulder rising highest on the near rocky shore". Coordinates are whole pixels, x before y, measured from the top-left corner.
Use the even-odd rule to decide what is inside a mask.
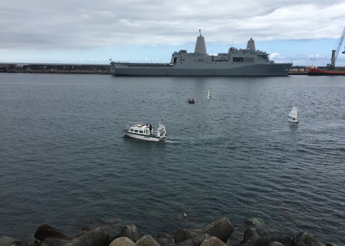
[[[228,218],[219,218],[211,223],[208,223],[198,229],[180,228],[175,236],[176,243],[195,238],[202,234],[215,236],[222,240],[224,243],[228,240],[231,233],[234,231],[234,226]]]

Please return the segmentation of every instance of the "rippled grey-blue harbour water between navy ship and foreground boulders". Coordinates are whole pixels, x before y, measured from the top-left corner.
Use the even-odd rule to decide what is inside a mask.
[[[122,132],[160,117],[163,143]],[[0,73],[0,238],[108,221],[155,236],[225,216],[231,244],[251,219],[340,246],[344,162],[344,77]]]

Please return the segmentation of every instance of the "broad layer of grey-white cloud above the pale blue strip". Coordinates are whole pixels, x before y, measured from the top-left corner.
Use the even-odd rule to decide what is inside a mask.
[[[338,38],[344,13],[343,0],[3,1],[0,47],[180,45],[199,28],[208,43]]]

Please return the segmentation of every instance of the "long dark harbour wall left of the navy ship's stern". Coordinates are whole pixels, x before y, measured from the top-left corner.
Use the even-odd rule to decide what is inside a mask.
[[[95,64],[0,64],[0,72],[7,73],[72,73],[111,74],[110,65]]]

